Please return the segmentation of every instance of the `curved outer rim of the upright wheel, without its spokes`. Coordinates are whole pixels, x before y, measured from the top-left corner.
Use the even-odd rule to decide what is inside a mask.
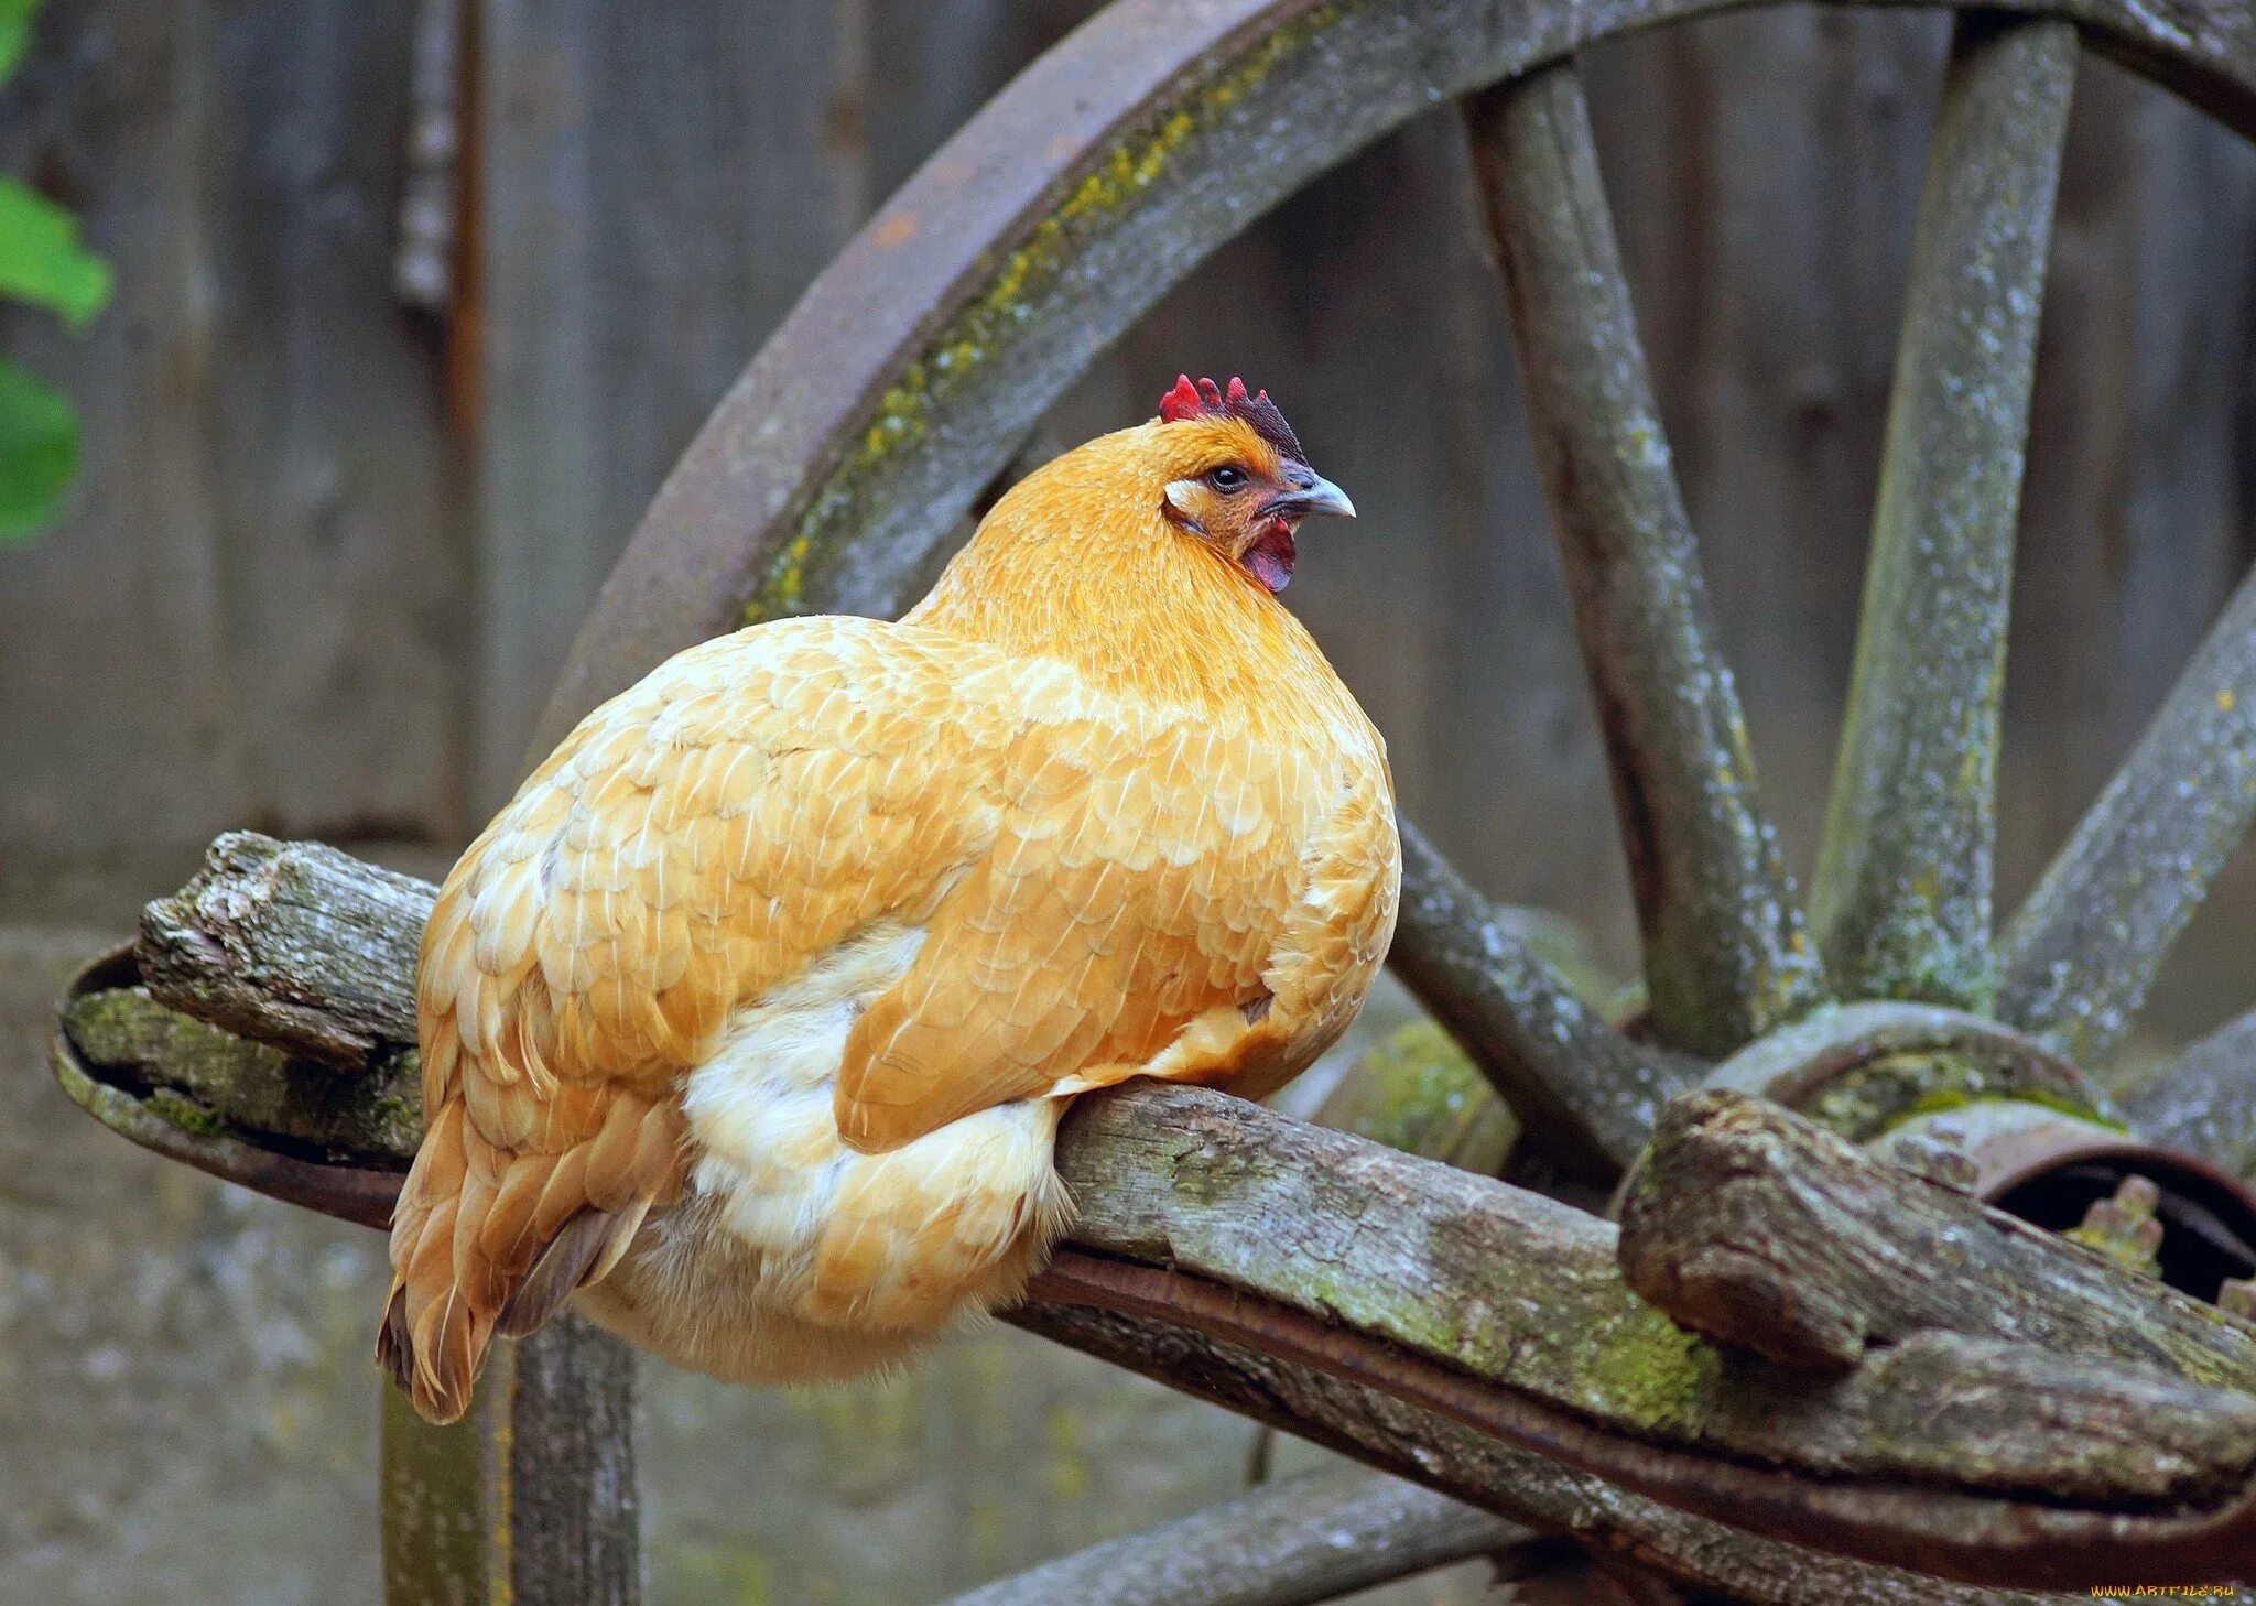
[[[1056,350],[990,361],[984,379],[963,381],[984,413],[972,420],[952,404],[929,438],[896,453],[909,467],[891,471],[909,476],[916,505],[893,510],[884,530],[860,541],[855,557],[871,575],[837,595],[817,586],[808,609],[898,607],[911,571],[905,555],[929,553],[1094,352],[1306,178],[1446,97],[1602,38],[1751,2],[1631,0],[1597,9],[1521,0],[1507,16],[1469,0],[1105,7],[1013,79],[878,210],[713,408],[582,625],[539,747],[672,652],[733,627],[763,577],[790,559],[794,539],[808,539],[803,514],[839,478],[855,444],[871,438],[889,390],[927,359],[941,361],[934,341],[950,320],[1022,271],[1013,253],[1058,228],[1076,185],[1099,183],[1108,165],[1133,167],[1171,120],[1189,117],[1184,108],[1200,92],[1218,95],[1220,86],[1230,97],[1211,126],[1184,135],[1187,156],[1175,162],[1182,171],[1135,171],[1092,235],[1117,257],[1123,237],[1148,244],[1155,262],[1142,277],[1123,273],[1137,277],[1133,284],[1081,277],[1065,302],[1051,305],[1060,318],[1069,307],[1069,341],[1051,332]],[[2139,0],[1999,0],[1994,9],[2073,20],[2094,47],[2256,138],[2256,18],[2236,0],[2182,0],[2170,16]],[[1241,83],[1252,68],[1268,77]],[[1313,88],[1336,95],[1329,115],[1302,108]],[[1277,122],[1290,122],[1297,138],[1275,142]],[[1211,194],[1218,169],[1232,185],[1220,201]],[[1087,257],[1083,241],[1074,259]]]

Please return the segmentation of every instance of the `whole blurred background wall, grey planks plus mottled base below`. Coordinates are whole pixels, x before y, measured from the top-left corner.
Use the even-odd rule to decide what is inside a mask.
[[[0,314],[88,422],[0,553],[0,1597],[374,1595],[374,1245],[156,1166],[45,1083],[43,1001],[228,826],[438,871],[593,586],[857,221],[1090,7],[462,0],[478,205],[402,309],[411,0],[52,0],[0,167],[115,305]],[[1586,63],[1766,794],[1823,810],[1945,20],[1780,9]],[[1437,113],[1227,248],[1054,413],[1178,368],[1286,404],[1365,517],[1293,605],[1489,891],[1627,963],[1595,729]],[[2256,557],[2256,151],[2087,65],[2060,201],[2003,774],[2033,877]],[[2154,1022],[2256,997],[2242,855]],[[1227,1489],[1241,1430],[1024,1338],[916,1383],[650,1389],[654,1599],[916,1601]],[[1405,1599],[1471,1599],[1464,1579]],[[1455,1595],[1437,1590],[1457,1590]]]

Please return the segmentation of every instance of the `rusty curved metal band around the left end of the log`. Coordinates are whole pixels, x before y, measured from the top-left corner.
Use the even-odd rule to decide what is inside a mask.
[[[63,992],[63,1011],[70,999],[92,990],[133,986],[140,968],[133,961],[133,945],[124,943],[95,956],[72,974]],[[86,1062],[79,1044],[70,1040],[63,1015],[56,1015],[54,1033],[47,1040],[47,1065],[54,1080],[63,1085],[79,1110],[142,1148],[167,1159],[178,1159],[221,1182],[235,1182],[253,1193],[300,1204],[323,1216],[336,1216],[361,1227],[386,1229],[393,1223],[393,1198],[399,1193],[399,1171],[377,1166],[327,1164],[300,1159],[262,1148],[230,1132],[190,1132],[149,1110],[149,1105],[124,1087],[106,1080],[97,1067]]]

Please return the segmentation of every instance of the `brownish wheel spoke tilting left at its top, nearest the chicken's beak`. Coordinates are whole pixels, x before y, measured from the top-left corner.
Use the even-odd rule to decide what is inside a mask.
[[[1466,104],[1575,598],[1656,1033],[1721,1056],[1825,995],[1755,796],[1570,65]]]

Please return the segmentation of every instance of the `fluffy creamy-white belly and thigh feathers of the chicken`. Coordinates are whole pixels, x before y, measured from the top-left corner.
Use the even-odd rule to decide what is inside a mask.
[[[920,945],[873,927],[729,1020],[684,1089],[688,1193],[582,1292],[591,1317],[702,1371],[792,1380],[902,1358],[1017,1295],[1065,1225],[1063,1098],[880,1155],[837,1130],[846,1033]]]

